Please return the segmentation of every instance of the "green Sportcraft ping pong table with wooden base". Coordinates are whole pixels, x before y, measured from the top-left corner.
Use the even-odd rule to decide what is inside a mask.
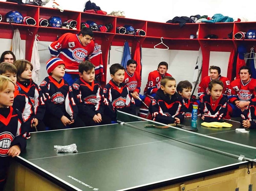
[[[216,129],[198,119],[190,132],[145,128],[161,123],[122,112],[117,119],[123,123],[31,133],[7,190],[256,190],[256,130],[237,132],[236,121]],[[72,143],[78,153],[53,148]]]

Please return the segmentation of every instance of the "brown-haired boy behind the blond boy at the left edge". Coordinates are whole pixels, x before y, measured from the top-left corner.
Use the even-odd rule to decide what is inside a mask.
[[[32,120],[35,117],[33,112],[33,104],[30,99],[25,95],[19,86],[16,85],[17,82],[17,69],[16,67],[9,62],[0,63],[0,75],[8,77],[15,84],[15,92],[14,92],[14,100],[12,107],[14,109],[18,109],[22,113],[22,119],[26,123],[23,127],[22,133],[27,134],[27,138],[29,138],[29,132],[32,127]]]

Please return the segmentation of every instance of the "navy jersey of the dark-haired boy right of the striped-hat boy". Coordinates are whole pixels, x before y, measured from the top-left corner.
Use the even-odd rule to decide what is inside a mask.
[[[104,96],[100,84],[94,80],[87,83],[83,78],[79,78],[72,85],[74,97],[78,107],[78,113],[87,115],[91,118],[104,111]]]

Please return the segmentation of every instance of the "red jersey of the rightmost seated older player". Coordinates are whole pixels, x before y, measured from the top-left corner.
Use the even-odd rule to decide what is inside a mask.
[[[234,101],[250,101],[255,98],[254,87],[256,86],[256,80],[251,78],[246,84],[241,79],[236,79],[231,82],[228,89],[228,101],[234,103]]]

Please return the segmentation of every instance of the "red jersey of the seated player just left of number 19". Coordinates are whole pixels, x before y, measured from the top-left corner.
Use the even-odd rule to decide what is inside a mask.
[[[134,71],[134,73],[130,75],[127,70],[125,70],[124,83],[127,85],[129,92],[140,92],[141,79],[137,71]]]

